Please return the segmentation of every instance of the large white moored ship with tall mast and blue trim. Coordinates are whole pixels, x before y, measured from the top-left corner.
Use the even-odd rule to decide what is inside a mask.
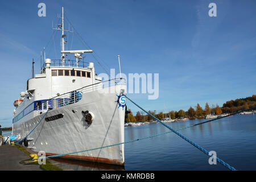
[[[26,137],[42,119],[22,144],[46,155],[124,142],[126,101],[118,99],[126,93],[126,83],[122,78],[102,81],[93,63],[84,65],[82,54],[92,50],[65,50],[63,12],[62,7],[57,28],[61,60],[44,58],[42,71],[27,80],[27,90],[14,102],[13,135]],[[75,56],[75,64],[67,55]],[[63,157],[117,165],[125,162],[123,144]]]

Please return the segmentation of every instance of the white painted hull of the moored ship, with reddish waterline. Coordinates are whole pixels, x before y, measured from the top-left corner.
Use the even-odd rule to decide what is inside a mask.
[[[49,110],[46,116],[42,113],[23,123],[14,124],[13,134],[25,137],[44,117],[28,136],[28,148],[36,152],[44,151],[46,155],[68,154],[62,157],[123,165],[124,144],[69,154],[124,142],[125,109],[115,102],[116,94],[98,90],[85,93],[79,102]],[[92,123],[86,122],[85,111],[94,115]],[[63,117],[51,121],[45,119],[55,118],[58,114]]]

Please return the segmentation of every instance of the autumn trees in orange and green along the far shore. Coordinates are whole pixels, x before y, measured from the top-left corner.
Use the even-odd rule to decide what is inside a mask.
[[[156,110],[151,111],[149,110],[148,113],[154,115],[154,117],[158,119],[164,119],[164,118],[171,118],[171,119],[179,119],[179,118],[189,118],[189,119],[195,119],[195,118],[204,118],[205,115],[209,114],[222,114],[222,113],[234,113],[240,110],[249,109],[251,107],[256,106],[256,95],[253,95],[251,97],[247,98],[240,98],[236,100],[226,101],[225,104],[223,104],[222,107],[216,105],[212,105],[212,107],[209,106],[208,102],[205,104],[204,109],[197,104],[194,108],[191,106],[187,111],[184,111],[180,109],[179,111],[170,111],[168,113],[157,113]],[[153,118],[149,115],[144,113],[143,111],[137,111],[136,115],[134,116],[131,110],[129,109],[130,113],[128,114],[128,117],[126,118],[126,122],[147,122],[152,121]]]

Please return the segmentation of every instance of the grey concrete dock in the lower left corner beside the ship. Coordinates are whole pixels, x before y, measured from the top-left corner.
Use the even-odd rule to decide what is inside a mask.
[[[42,171],[40,165],[22,164],[30,156],[16,146],[0,146],[0,171]]]

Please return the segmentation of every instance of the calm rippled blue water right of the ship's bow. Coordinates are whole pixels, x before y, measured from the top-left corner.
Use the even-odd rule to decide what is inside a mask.
[[[203,122],[205,119],[167,123],[174,129]],[[125,140],[168,131],[160,123],[125,127]],[[256,170],[256,115],[235,115],[180,130],[208,151],[238,170]],[[227,170],[209,165],[209,156],[174,133],[125,145],[126,170]]]

